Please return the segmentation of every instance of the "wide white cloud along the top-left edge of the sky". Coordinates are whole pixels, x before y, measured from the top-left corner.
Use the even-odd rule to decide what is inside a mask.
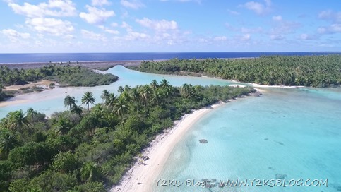
[[[14,13],[34,18],[34,17],[44,17],[44,16],[76,16],[76,7],[72,1],[65,0],[49,0],[48,3],[40,3],[38,5],[32,5],[24,3],[23,6],[18,4],[9,3]]]

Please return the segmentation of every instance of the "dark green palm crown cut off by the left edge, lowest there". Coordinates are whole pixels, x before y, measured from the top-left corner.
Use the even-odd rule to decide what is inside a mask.
[[[8,156],[9,152],[18,146],[20,146],[20,141],[16,138],[15,135],[10,133],[9,131],[4,131],[0,137],[0,153]]]

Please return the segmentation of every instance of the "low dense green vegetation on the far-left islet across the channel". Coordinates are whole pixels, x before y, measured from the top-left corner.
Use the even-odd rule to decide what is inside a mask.
[[[118,79],[112,74],[95,73],[80,66],[51,64],[42,68],[18,69],[0,67],[0,84],[24,85],[37,80],[55,80],[64,86],[108,85]]]

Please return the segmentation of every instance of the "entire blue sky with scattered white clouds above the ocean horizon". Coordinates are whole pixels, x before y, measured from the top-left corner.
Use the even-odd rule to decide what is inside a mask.
[[[0,0],[0,53],[341,51],[340,0]]]

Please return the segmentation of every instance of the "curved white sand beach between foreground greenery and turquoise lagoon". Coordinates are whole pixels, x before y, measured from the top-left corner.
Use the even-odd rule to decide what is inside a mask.
[[[150,143],[150,147],[143,151],[143,156],[149,157],[148,160],[139,160],[133,164],[133,167],[124,174],[120,183],[110,190],[116,191],[139,191],[149,192],[157,183],[157,176],[162,171],[162,167],[172,152],[174,146],[189,131],[191,126],[196,123],[202,116],[211,112],[213,109],[221,107],[223,102],[213,104],[204,109],[198,109],[191,114],[186,114],[181,120],[175,122],[174,128],[169,128],[160,134]]]

